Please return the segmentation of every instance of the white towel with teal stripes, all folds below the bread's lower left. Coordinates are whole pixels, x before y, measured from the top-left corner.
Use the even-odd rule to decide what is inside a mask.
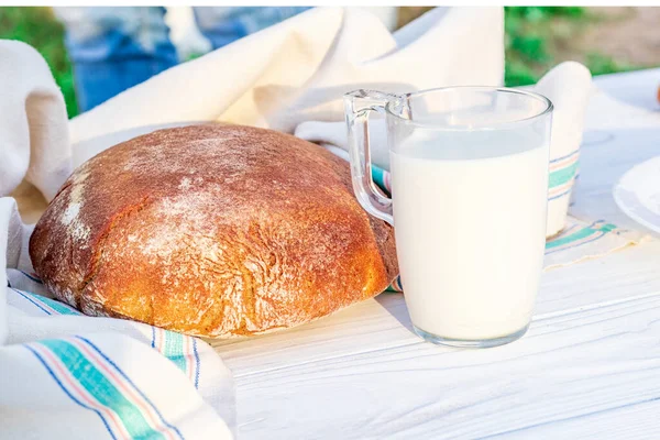
[[[233,380],[207,343],[81,316],[15,287],[40,285],[34,274],[7,271],[0,437],[232,438]]]

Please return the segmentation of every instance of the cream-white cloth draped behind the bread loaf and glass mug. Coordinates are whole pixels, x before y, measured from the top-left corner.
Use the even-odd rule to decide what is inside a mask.
[[[343,120],[342,95],[356,88],[496,86],[503,76],[502,8],[437,8],[394,34],[364,10],[316,8],[75,118],[72,140],[209,120],[293,133],[304,121]]]

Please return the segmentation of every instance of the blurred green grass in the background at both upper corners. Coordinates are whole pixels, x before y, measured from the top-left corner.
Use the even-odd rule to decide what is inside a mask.
[[[557,64],[556,40],[563,38],[597,21],[580,7],[510,7],[505,8],[507,86],[536,82]],[[78,113],[72,63],[64,47],[64,29],[50,8],[0,8],[0,38],[20,40],[34,46],[44,56],[62,88],[69,117]],[[597,53],[586,54],[585,64],[592,74],[630,70],[637,66],[622,65]]]

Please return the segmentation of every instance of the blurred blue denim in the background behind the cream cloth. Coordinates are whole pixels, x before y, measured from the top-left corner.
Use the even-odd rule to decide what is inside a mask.
[[[213,50],[294,16],[307,7],[194,8],[201,34]],[[165,9],[55,8],[66,28],[80,111],[178,64],[165,24]]]

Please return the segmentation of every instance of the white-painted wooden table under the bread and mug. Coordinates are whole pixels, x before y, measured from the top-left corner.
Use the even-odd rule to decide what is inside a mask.
[[[638,228],[612,186],[660,154],[660,69],[595,80],[578,217]],[[660,438],[660,241],[543,275],[521,340],[459,350],[413,334],[383,294],[317,322],[219,342],[242,439]]]

